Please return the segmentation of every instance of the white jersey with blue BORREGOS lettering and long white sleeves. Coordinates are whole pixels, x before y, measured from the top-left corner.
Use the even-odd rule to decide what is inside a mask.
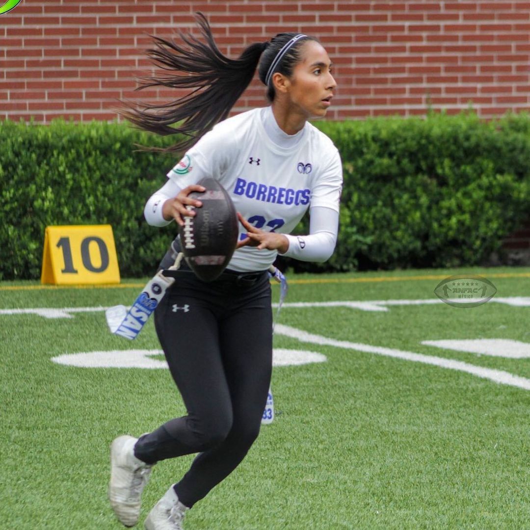
[[[249,223],[285,234],[284,254],[304,261],[325,261],[337,240],[342,165],[337,148],[306,122],[296,135],[278,127],[270,107],[254,109],[218,123],[189,149],[167,174],[166,184],[147,201],[149,224],[164,226],[165,200],[204,176],[213,176]],[[311,208],[310,234],[290,232]],[[240,237],[245,229],[240,225]],[[228,268],[266,270],[277,251],[245,246],[234,252]]]

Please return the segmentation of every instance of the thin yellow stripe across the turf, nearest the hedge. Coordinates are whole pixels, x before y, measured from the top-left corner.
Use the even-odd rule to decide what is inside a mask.
[[[451,275],[449,275],[451,276]],[[412,280],[443,280],[449,278],[447,275],[422,275],[422,276],[390,276],[387,278],[307,278],[306,280],[289,280],[289,285],[297,284],[358,284],[364,282],[378,281],[412,281]],[[470,276],[475,276],[471,273]],[[530,278],[530,272],[494,272],[488,275],[479,275],[487,278]],[[147,280],[146,280],[147,281]],[[112,284],[112,285],[0,285],[0,291],[24,291],[38,289],[124,289],[129,287],[143,287],[145,282],[131,284]],[[271,280],[273,285],[277,282]]]

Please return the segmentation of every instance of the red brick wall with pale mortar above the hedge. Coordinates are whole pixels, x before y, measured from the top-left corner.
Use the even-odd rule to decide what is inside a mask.
[[[106,120],[119,98],[171,99],[133,92],[146,34],[190,28],[198,10],[230,56],[279,31],[319,37],[339,84],[331,119],[530,107],[530,2],[22,0],[0,15],[0,118]],[[263,104],[254,81],[235,110]]]

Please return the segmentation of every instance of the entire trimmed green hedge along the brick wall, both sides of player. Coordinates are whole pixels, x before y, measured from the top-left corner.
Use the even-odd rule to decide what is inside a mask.
[[[473,113],[318,122],[344,166],[339,243],[296,270],[481,263],[527,218],[530,119]],[[175,235],[143,220],[146,199],[176,162],[136,150],[169,145],[118,123],[0,122],[0,278],[39,278],[45,227],[111,224],[122,276],[151,275]],[[307,230],[307,219],[297,231]]]

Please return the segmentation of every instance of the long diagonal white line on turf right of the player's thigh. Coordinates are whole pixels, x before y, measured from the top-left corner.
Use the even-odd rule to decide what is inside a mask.
[[[308,333],[307,331],[291,328],[283,324],[276,324],[275,333],[280,335],[286,335],[297,339],[301,342],[310,342],[311,344],[319,344],[323,346],[335,346],[338,348],[364,351],[369,354],[383,355],[386,357],[394,357],[396,359],[404,359],[413,361],[415,363],[423,363],[432,366],[438,366],[440,368],[448,368],[451,370],[458,370],[460,372],[466,372],[468,374],[476,375],[484,379],[490,379],[496,383],[504,385],[517,386],[530,390],[530,379],[520,377],[517,375],[504,372],[503,370],[494,370],[491,368],[483,368],[482,366],[475,366],[463,361],[457,361],[453,359],[445,359],[443,357],[434,357],[429,355],[415,354],[411,351],[395,350],[392,348],[383,348],[379,346],[369,346],[367,344],[360,344],[358,342],[349,342],[346,340],[335,340],[322,335],[316,335],[314,333]]]

